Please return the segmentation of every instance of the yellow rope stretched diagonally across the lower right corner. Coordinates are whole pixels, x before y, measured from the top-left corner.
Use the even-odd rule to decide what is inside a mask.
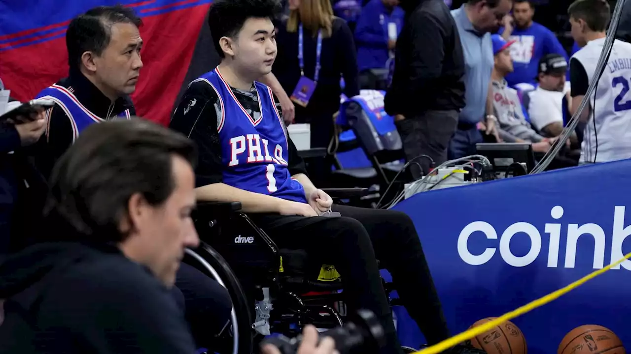
[[[510,319],[514,319],[517,316],[521,316],[522,314],[525,314],[526,312],[532,311],[534,309],[536,309],[537,307],[541,307],[545,304],[548,304],[548,302],[551,302],[553,300],[558,299],[559,297],[561,297],[562,295],[565,295],[567,293],[569,293],[570,291],[574,290],[575,288],[583,285],[584,283],[586,283],[588,280],[592,280],[593,278],[598,277],[599,275],[603,274],[605,271],[608,271],[611,269],[611,267],[615,266],[615,265],[619,265],[620,263],[622,263],[623,261],[627,260],[628,258],[631,258],[631,253],[627,253],[623,258],[621,258],[620,260],[616,261],[615,263],[611,263],[608,266],[605,266],[602,269],[593,271],[592,273],[589,273],[588,275],[586,275],[585,277],[582,277],[581,279],[575,281],[574,283],[571,283],[570,285],[567,285],[567,287],[563,287],[560,288],[559,290],[555,291],[555,292],[551,292],[548,295],[545,295],[544,297],[540,297],[539,299],[534,300],[533,302],[530,302],[529,304],[523,305],[522,307],[519,307],[518,309],[515,309],[513,311],[507,312],[506,314],[497,317],[496,319],[493,319],[493,321],[489,321],[485,324],[482,324],[481,326],[477,326],[471,329],[468,329],[467,331],[464,331],[463,333],[460,334],[456,334],[456,336],[453,336],[447,340],[444,340],[440,343],[438,343],[437,345],[432,345],[429,348],[425,348],[423,350],[420,351],[416,351],[416,353],[413,354],[438,354],[441,353],[442,351],[445,351],[449,348],[451,348],[452,346],[455,346],[459,343],[462,343],[463,341],[466,340],[470,340],[471,338],[478,336],[482,333],[485,333],[486,331],[489,331],[490,329],[494,328],[495,326],[498,326],[498,324],[504,323],[505,321],[509,321]]]

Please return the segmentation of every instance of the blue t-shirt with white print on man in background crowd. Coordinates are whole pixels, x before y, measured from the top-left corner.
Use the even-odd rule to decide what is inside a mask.
[[[504,28],[500,28],[502,33]],[[539,60],[546,54],[560,54],[568,59],[567,52],[558,42],[557,36],[539,23],[525,29],[515,28],[510,34],[510,40],[516,40],[510,46],[510,57],[513,60],[514,71],[506,76],[510,86],[519,83],[536,83]]]

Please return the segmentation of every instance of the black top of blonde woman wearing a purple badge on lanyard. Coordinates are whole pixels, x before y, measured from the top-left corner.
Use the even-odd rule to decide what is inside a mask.
[[[276,24],[276,45],[278,54],[272,72],[285,92],[291,96],[300,79],[298,64],[298,32],[288,32],[286,21]],[[339,79],[345,82],[346,96],[359,94],[357,51],[353,33],[341,18],[333,19],[331,37],[322,38],[320,77],[307,108],[296,106],[296,121],[310,122],[309,118],[331,117],[339,110],[341,88]],[[304,72],[310,79],[315,72],[315,47],[317,33],[304,31]]]

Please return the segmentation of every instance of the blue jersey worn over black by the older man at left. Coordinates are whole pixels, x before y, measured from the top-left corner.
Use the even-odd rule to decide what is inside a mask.
[[[85,108],[85,106],[77,100],[76,96],[74,96],[72,89],[54,84],[43,89],[37,94],[36,98],[54,101],[57,103],[57,106],[66,113],[66,116],[70,120],[70,125],[73,127],[73,142],[88,125],[105,122],[103,118],[98,117],[88,110],[88,108]],[[129,119],[129,110],[123,111],[118,117]],[[48,134],[48,132],[46,132],[46,134]]]

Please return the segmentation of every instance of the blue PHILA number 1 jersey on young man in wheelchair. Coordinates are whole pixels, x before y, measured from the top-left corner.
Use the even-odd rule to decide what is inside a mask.
[[[271,89],[254,82],[261,115],[256,120],[237,101],[219,69],[196,81],[208,83],[219,96],[223,183],[242,190],[306,203],[302,185],[287,168],[288,135]]]

